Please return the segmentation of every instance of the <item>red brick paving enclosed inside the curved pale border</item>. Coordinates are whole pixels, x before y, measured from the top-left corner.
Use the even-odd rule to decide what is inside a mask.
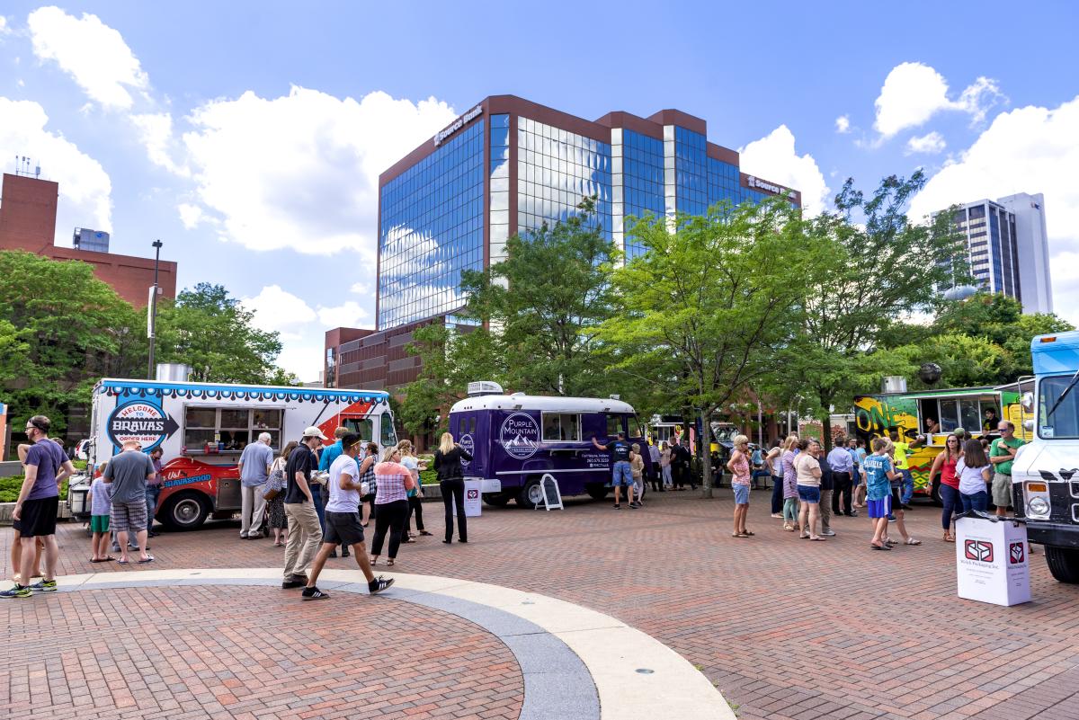
[[[390,598],[363,612],[264,587],[13,600],[0,716],[517,718],[520,667],[486,631]]]

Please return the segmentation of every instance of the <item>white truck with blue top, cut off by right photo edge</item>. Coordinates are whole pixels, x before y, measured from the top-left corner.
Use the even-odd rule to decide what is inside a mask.
[[[1027,444],[1012,462],[1012,504],[1046,546],[1061,582],[1079,583],[1079,331],[1030,344],[1034,390],[1023,394]]]

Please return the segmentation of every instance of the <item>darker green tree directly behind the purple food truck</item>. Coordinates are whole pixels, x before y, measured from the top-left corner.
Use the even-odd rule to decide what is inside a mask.
[[[569,219],[514,235],[506,260],[462,273],[465,315],[496,330],[506,383],[521,391],[596,394],[609,379],[598,361],[611,317],[614,246],[585,198]]]

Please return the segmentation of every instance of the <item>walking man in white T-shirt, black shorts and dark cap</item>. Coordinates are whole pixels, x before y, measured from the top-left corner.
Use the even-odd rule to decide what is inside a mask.
[[[371,563],[364,544],[364,526],[359,522],[359,463],[356,455],[359,453],[364,439],[355,432],[341,438],[341,455],[330,465],[330,477],[327,483],[329,502],[326,503],[326,534],[323,536],[323,546],[318,550],[311,569],[308,571],[308,586],[303,589],[303,599],[322,600],[329,597],[315,584],[318,574],[326,565],[330,553],[339,545],[352,545],[356,556],[356,565],[367,578],[367,589],[371,595],[381,593],[394,584],[393,579],[375,578],[371,572]]]

